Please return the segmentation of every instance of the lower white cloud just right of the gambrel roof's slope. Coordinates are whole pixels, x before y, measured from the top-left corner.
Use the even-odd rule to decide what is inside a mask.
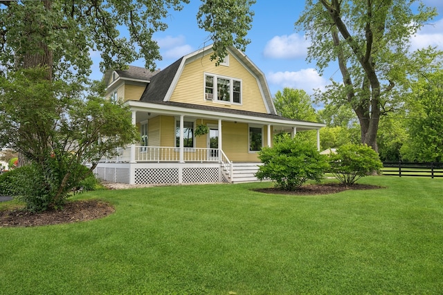
[[[302,89],[309,95],[314,93],[314,89],[323,90],[327,85],[327,81],[318,75],[314,68],[306,68],[298,72],[271,72],[266,75],[266,79],[270,84],[278,85],[280,88]]]

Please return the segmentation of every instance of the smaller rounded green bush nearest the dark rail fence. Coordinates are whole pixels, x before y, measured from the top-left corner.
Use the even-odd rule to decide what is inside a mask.
[[[345,144],[329,155],[334,176],[345,185],[381,169],[383,164],[376,151],[366,144]]]

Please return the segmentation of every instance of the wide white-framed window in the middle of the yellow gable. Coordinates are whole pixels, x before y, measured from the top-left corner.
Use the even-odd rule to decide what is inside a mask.
[[[206,74],[205,99],[242,104],[242,81],[230,77]]]

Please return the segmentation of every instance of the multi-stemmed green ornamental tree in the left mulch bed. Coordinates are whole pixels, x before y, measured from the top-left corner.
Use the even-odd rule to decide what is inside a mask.
[[[46,75],[29,68],[0,77],[0,146],[28,159],[15,194],[34,211],[60,207],[103,155],[138,137],[127,106]]]

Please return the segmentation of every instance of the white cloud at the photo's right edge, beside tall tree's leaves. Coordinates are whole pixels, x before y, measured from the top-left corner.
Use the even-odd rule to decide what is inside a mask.
[[[428,46],[437,46],[438,49],[443,50],[443,19],[433,23],[433,25],[424,26],[410,39],[410,43],[412,50]]]

